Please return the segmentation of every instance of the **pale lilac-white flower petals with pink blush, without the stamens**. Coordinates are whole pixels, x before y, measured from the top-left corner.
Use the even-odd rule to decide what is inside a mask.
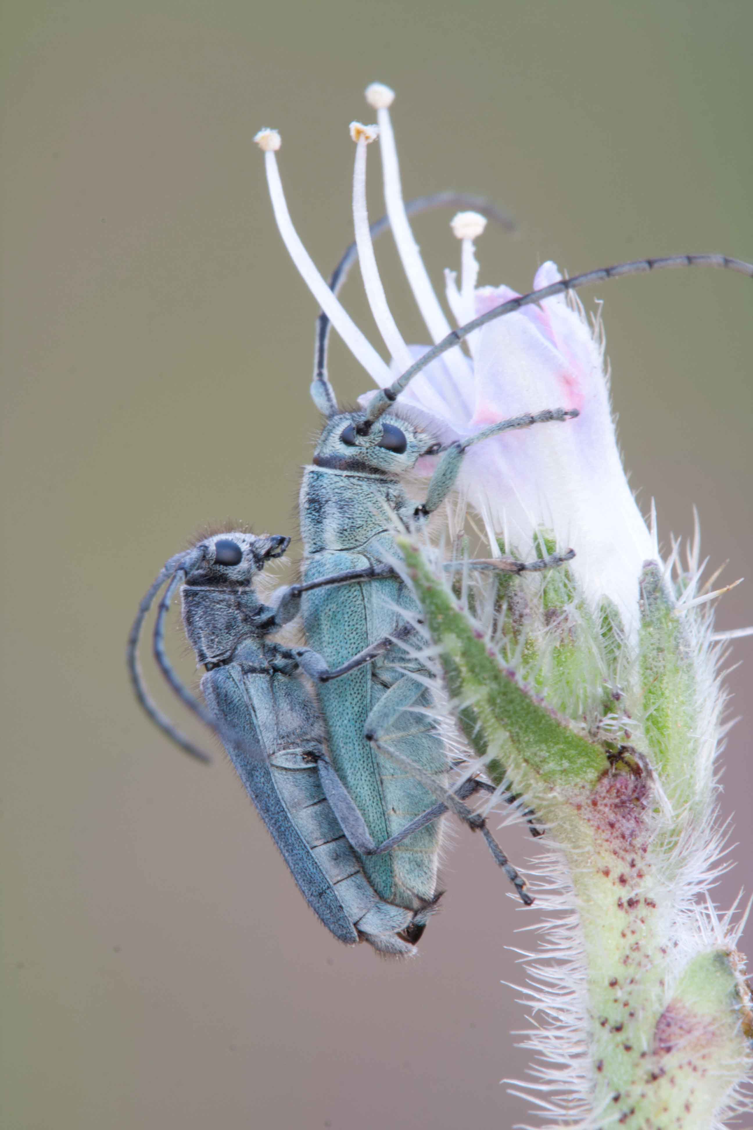
[[[533,289],[560,278],[544,263]],[[448,273],[458,324],[515,297],[508,287],[474,288],[465,308]],[[420,356],[426,347],[414,350]],[[548,298],[497,319],[471,338],[472,360],[461,385],[438,358],[402,401],[444,441],[545,408],[577,408],[564,425],[511,432],[470,447],[459,485],[508,545],[528,554],[536,529],[552,530],[576,550],[572,568],[594,603],[608,597],[631,635],[638,625],[638,577],[656,546],[636,505],[611,416],[603,342],[577,299]]]

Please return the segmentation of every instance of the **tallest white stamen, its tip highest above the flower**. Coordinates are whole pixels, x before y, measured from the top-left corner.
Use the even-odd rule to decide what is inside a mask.
[[[378,96],[375,96],[375,90],[378,92]],[[369,94],[369,92],[371,93]],[[443,338],[447,337],[450,327],[431,286],[431,279],[423,266],[421,252],[413,238],[413,232],[408,219],[403,202],[403,190],[400,183],[397,147],[389,118],[389,103],[383,97],[383,92],[384,88],[382,85],[375,82],[368,87],[366,97],[369,105],[376,108],[379,123],[384,201],[403,270],[405,271],[413,297],[421,311],[421,316],[426,322],[431,340],[436,345]],[[467,367],[459,349],[450,349],[446,353],[444,362],[456,381],[467,381]]]

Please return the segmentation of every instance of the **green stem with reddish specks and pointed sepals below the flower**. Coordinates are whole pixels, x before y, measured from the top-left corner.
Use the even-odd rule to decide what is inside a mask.
[[[692,640],[663,573],[649,563],[641,577],[634,655],[612,610],[578,607],[564,570],[539,589],[506,577],[494,635],[418,546],[402,549],[465,737],[567,864],[586,1029],[569,1035],[588,1048],[587,1125],[708,1130],[751,1067],[750,988],[734,947],[689,911],[683,868],[712,840],[713,780]],[[516,635],[516,599],[549,627]],[[595,657],[605,683],[583,709]],[[627,689],[610,690],[618,667]],[[619,725],[597,709],[615,697],[627,701]]]

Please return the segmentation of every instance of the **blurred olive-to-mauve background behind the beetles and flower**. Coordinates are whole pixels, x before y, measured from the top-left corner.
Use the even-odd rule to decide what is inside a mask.
[[[124,641],[205,523],[297,531],[315,308],[272,224],[256,129],[282,131],[290,208],[325,271],[351,237],[347,125],[370,119],[375,79],[397,90],[409,195],[466,189],[518,217],[519,237],[484,235],[482,281],[527,289],[548,258],[571,273],[751,259],[752,42],[750,0],[7,7],[3,1128],[525,1115],[499,1085],[526,1062],[500,981],[524,976],[505,947],[531,944],[515,931],[536,911],[516,910],[482,845],[454,837],[420,959],[339,947],[224,757],[193,764],[141,715]],[[448,219],[417,223],[438,281],[457,260]],[[420,340],[387,242],[380,258]],[[664,273],[598,296],[643,510],[655,495],[666,545],[698,504],[715,564],[748,573],[751,284]],[[376,340],[357,277],[345,301]],[[345,399],[368,384],[338,344],[332,375]],[[720,626],[753,623],[752,593],[725,599]],[[180,654],[177,628],[169,642]],[[752,886],[751,649],[729,679],[746,721],[724,757],[738,844],[724,906]],[[505,843],[534,852],[519,832]]]

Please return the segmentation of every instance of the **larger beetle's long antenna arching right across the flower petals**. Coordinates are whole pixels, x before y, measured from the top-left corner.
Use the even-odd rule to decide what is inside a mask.
[[[458,345],[469,333],[473,333],[474,330],[485,325],[487,322],[492,322],[505,314],[513,314],[516,310],[520,310],[522,306],[531,306],[533,303],[542,302],[544,298],[552,298],[558,294],[566,294],[568,290],[578,290],[580,287],[590,286],[593,282],[604,282],[606,279],[622,278],[625,275],[645,275],[648,271],[680,267],[717,267],[723,270],[737,271],[739,275],[753,278],[753,263],[746,263],[743,259],[729,259],[727,255],[669,255],[664,259],[633,259],[630,262],[618,263],[614,267],[601,267],[598,270],[586,271],[584,275],[573,275],[570,279],[560,279],[558,282],[552,282],[551,286],[542,287],[541,290],[531,290],[528,294],[519,295],[517,298],[510,298],[509,302],[504,302],[500,306],[496,306],[485,314],[474,318],[472,322],[466,322],[459,329],[453,330],[436,346],[428,349],[422,357],[419,357],[388,388],[379,389],[369,403],[366,419],[360,425],[360,428],[365,433],[368,433],[371,425],[388,410],[393,401],[397,399],[405,386],[421,370],[430,365],[441,354],[452,349],[453,346]]]

